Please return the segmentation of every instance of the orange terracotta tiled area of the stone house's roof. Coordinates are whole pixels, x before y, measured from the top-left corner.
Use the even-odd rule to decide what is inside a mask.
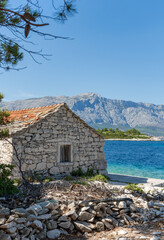
[[[37,108],[10,111],[9,120],[23,122],[24,124],[28,125],[38,121],[40,118],[43,118],[45,115],[47,115],[48,113],[52,112],[53,110],[55,110],[56,108],[62,105],[64,105],[64,103],[55,104],[55,105],[46,106],[46,107],[37,107]]]

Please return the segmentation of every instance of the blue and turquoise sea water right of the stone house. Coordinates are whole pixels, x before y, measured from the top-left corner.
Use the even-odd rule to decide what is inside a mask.
[[[105,141],[109,173],[164,179],[164,141]]]

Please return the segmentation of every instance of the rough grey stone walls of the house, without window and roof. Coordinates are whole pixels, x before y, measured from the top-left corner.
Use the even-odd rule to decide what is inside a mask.
[[[65,106],[16,132],[10,141],[23,161],[24,171],[58,175],[67,174],[78,167],[83,171],[90,167],[106,173],[104,140]],[[61,144],[71,144],[71,162],[60,162]],[[12,145],[3,140],[0,147],[0,161],[14,163]]]

